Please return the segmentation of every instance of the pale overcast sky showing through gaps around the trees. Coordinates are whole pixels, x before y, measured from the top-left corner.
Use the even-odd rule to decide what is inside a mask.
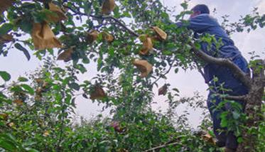
[[[181,11],[181,0],[161,0],[165,6],[172,8],[176,6],[176,10]],[[259,7],[259,12],[265,13],[265,0],[191,0],[189,8],[195,6],[195,4],[207,4],[210,10],[217,9],[217,13],[212,14],[218,21],[222,21],[221,16],[225,14],[229,15],[230,21],[238,21],[240,16],[244,16],[247,13],[251,13],[254,7]],[[244,57],[249,60],[247,53],[256,51],[257,54],[262,55],[265,51],[265,28],[252,31],[251,33],[234,33],[232,35],[235,45],[242,52]],[[33,53],[33,51],[32,51]],[[264,58],[264,55],[261,57]],[[10,50],[7,57],[0,57],[0,70],[9,72],[12,76],[12,80],[16,80],[19,75],[23,75],[24,72],[33,71],[36,67],[41,65],[41,61],[31,56],[31,60],[27,61],[25,56],[19,50]],[[80,76],[80,80],[90,80],[92,74],[96,72],[95,68],[91,65],[87,67],[88,72],[85,75]],[[1,84],[2,80],[0,80]],[[163,85],[165,81],[159,82]],[[169,73],[168,80],[166,82],[171,83],[171,88],[177,87],[180,90],[180,94],[185,97],[193,96],[193,92],[198,91],[203,96],[207,97],[207,85],[197,71],[180,71],[178,74],[174,72]],[[157,92],[157,89],[154,89]],[[155,109],[159,107],[166,109],[166,105],[163,101],[164,97],[156,97],[157,103],[153,105]],[[87,99],[77,99],[77,113],[90,118],[92,114],[98,114],[100,107],[97,104],[92,104]],[[190,121],[193,124],[198,124],[200,119],[200,112],[193,112],[190,116]]]

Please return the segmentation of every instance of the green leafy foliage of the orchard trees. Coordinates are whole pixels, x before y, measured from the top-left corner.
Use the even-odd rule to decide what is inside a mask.
[[[175,108],[183,103],[193,109],[205,109],[199,94],[180,98],[177,88],[168,89],[168,82],[165,93],[168,112],[154,112],[151,108],[153,88],[158,87],[158,80],[166,80],[171,70],[178,73],[179,68],[194,70],[204,64],[194,60],[189,45],[193,32],[172,23],[169,10],[160,1],[115,1],[113,12],[104,16],[102,0],[53,1],[67,16],[62,21],[52,21],[50,16],[60,14],[49,9],[49,2],[14,1],[0,16],[0,38],[6,34],[12,36],[8,41],[0,39],[0,55],[7,56],[11,49],[19,50],[28,60],[33,54],[43,63],[40,70],[18,77],[16,82],[9,82],[11,75],[0,71],[4,80],[0,86],[0,151],[145,151],[171,143],[161,151],[222,151],[191,129],[188,114],[175,116]],[[175,21],[182,21],[190,14],[187,2],[181,6],[183,11],[175,16]],[[242,28],[256,29],[256,25],[264,26],[265,18],[256,13],[241,21]],[[41,30],[44,28],[38,29],[43,33],[40,41],[33,36],[35,23],[42,26],[45,23],[46,32]],[[148,55],[140,55],[141,38],[137,37],[156,36],[153,26],[165,31],[168,38],[153,38],[153,49]],[[92,31],[99,32],[97,38],[93,39]],[[47,40],[49,44],[56,39],[63,47],[34,50],[34,46],[38,48],[36,43],[45,41],[44,35],[52,38]],[[195,43],[213,41],[219,44],[212,36]],[[67,62],[64,67],[58,66],[57,54],[59,60]],[[133,65],[136,59],[153,65],[147,77],[140,77],[140,71]],[[90,72],[88,67],[94,65],[97,76],[80,82],[78,75]],[[104,95],[92,97],[97,87]],[[99,115],[75,124],[75,99],[81,95],[86,101],[92,99],[102,104],[111,116]],[[223,119],[224,126],[238,124],[239,116],[237,113],[233,116],[233,120]],[[113,126],[113,121],[119,122],[119,129]],[[210,126],[205,114],[200,128],[213,136]],[[265,137],[261,134],[264,129],[261,122],[259,129],[252,130],[259,134],[257,149],[264,148]]]

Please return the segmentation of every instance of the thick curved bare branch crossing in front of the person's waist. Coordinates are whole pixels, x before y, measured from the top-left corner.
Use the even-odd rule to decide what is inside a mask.
[[[207,63],[228,67],[234,73],[234,77],[240,80],[249,89],[251,88],[250,78],[247,76],[245,72],[243,72],[239,67],[237,67],[237,65],[232,63],[231,60],[226,58],[214,58],[210,55],[207,55],[206,53],[203,53],[202,50],[198,50],[193,43],[190,43],[190,45],[193,47],[192,50],[195,53],[195,55],[197,55],[199,58],[201,58]]]

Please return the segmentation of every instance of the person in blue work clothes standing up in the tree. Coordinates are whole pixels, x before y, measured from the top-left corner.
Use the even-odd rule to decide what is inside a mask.
[[[194,6],[191,11],[193,11],[193,13],[190,15],[189,23],[186,25],[185,23],[178,22],[176,23],[177,26],[186,26],[194,32],[195,38],[210,34],[214,36],[216,40],[221,40],[222,45],[220,48],[217,48],[215,43],[208,46],[208,43],[202,42],[200,43],[200,50],[215,58],[228,58],[243,72],[249,73],[247,61],[242,57],[239,49],[234,45],[233,40],[229,38],[225,30],[217,22],[217,19],[210,16],[208,7],[205,4],[198,4]],[[232,112],[235,108],[229,103],[220,108],[220,103],[223,103],[224,100],[213,94],[220,92],[217,88],[221,85],[224,88],[231,90],[225,93],[233,96],[247,94],[248,89],[242,84],[242,82],[234,77],[232,71],[227,67],[207,63],[203,69],[205,82],[210,86],[207,107],[212,116],[213,129],[215,136],[217,137],[217,146],[225,146],[225,151],[236,151],[238,145],[237,137],[234,135],[233,131],[229,131],[229,127],[227,129],[221,126],[220,119],[222,112]],[[214,79],[215,77],[217,77],[217,82],[216,79]],[[244,102],[235,102],[237,102],[238,105],[241,105],[242,110],[244,109]]]

